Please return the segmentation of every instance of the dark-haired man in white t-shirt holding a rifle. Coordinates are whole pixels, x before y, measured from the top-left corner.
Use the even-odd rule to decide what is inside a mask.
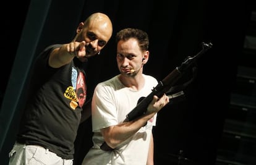
[[[158,85],[156,78],[143,74],[149,58],[148,35],[142,30],[125,28],[116,35],[119,75],[99,83],[92,99],[93,146],[83,165],[152,165],[153,134],[156,115],[169,98],[153,96],[145,114],[125,121],[140,98]],[[108,146],[109,150],[101,146]]]

